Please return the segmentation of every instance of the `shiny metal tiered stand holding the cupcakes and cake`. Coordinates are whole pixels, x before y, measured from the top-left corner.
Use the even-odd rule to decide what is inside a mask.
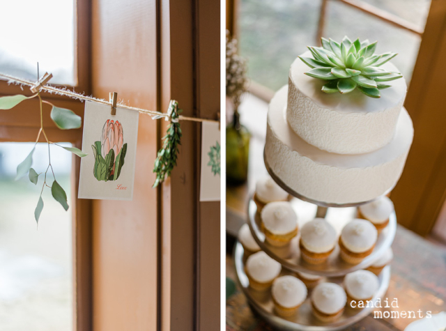
[[[291,190],[287,187],[275,174],[269,169],[268,162],[265,159],[265,164],[270,173],[270,176],[275,180],[275,182],[281,186],[284,190],[289,192],[291,196],[295,198],[314,203],[318,206],[317,217],[324,217],[327,208],[345,208],[345,207],[357,207],[363,203],[369,201],[364,201],[362,203],[351,203],[346,205],[339,205],[333,203],[325,203],[323,201],[314,201],[302,197],[298,192]],[[378,198],[378,197],[377,197]],[[248,224],[251,229],[252,236],[259,244],[259,247],[266,252],[272,259],[275,259],[282,264],[282,275],[293,275],[294,272],[305,272],[312,275],[320,275],[324,277],[323,282],[335,282],[338,284],[342,283],[344,275],[355,270],[368,268],[371,264],[378,259],[378,257],[383,254],[392,245],[395,233],[397,231],[397,217],[395,213],[390,215],[389,225],[379,234],[378,240],[374,251],[367,256],[361,263],[357,265],[351,265],[342,261],[339,257],[339,246],[335,247],[332,254],[328,258],[328,261],[321,265],[311,265],[306,263],[300,258],[299,252],[299,236],[293,238],[289,247],[277,248],[269,245],[265,241],[265,235],[260,228],[260,218],[256,210],[256,203],[252,199],[249,200],[248,204]],[[315,217],[316,217],[315,215]],[[336,227],[336,226],[335,226]],[[240,243],[236,243],[234,249],[234,261],[236,263],[236,273],[238,276],[238,282],[240,287],[243,289],[249,304],[251,307],[262,316],[270,325],[272,325],[275,330],[301,330],[301,331],[334,331],[334,330],[344,330],[348,325],[352,325],[365,316],[369,315],[373,310],[372,307],[364,309],[353,309],[351,307],[346,307],[344,314],[339,318],[339,320],[333,323],[322,323],[318,321],[316,317],[312,314],[312,304],[309,300],[311,295],[311,289],[309,290],[309,295],[307,300],[299,307],[298,314],[292,317],[284,318],[280,317],[274,312],[274,304],[270,295],[270,291],[255,291],[249,288],[249,280],[245,274],[245,257],[243,252],[243,246]],[[390,282],[390,266],[387,266],[380,273],[379,277],[380,286],[378,292],[375,295],[374,300],[377,298],[382,298],[385,295]]]

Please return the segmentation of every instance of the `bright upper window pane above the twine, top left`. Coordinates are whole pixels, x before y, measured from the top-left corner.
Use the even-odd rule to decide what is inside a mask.
[[[75,86],[73,0],[0,1],[0,72],[35,80],[52,72],[54,84]]]

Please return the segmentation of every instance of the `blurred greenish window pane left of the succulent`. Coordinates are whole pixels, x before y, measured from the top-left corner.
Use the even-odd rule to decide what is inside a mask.
[[[287,84],[293,60],[314,45],[319,1],[241,0],[240,55],[249,78],[273,90]]]

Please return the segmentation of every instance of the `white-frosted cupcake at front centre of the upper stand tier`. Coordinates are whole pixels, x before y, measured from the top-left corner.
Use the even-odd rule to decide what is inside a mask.
[[[300,230],[300,254],[311,264],[327,260],[336,245],[337,233],[333,226],[323,218],[307,222]]]

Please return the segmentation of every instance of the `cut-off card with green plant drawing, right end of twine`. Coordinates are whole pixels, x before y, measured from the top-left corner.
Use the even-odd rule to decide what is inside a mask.
[[[220,201],[220,130],[218,123],[201,124],[200,201]]]

